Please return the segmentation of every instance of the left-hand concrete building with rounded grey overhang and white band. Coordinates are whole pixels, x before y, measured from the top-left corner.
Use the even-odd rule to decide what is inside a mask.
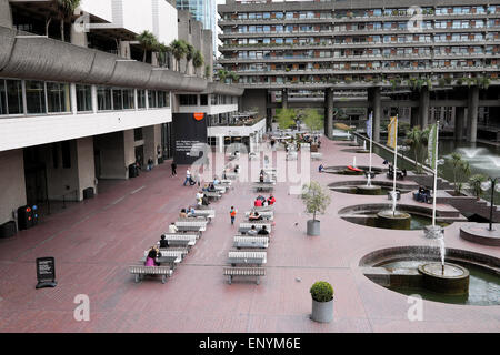
[[[50,212],[50,202],[82,201],[101,180],[134,178],[133,165],[170,159],[179,95],[238,102],[243,92],[160,68],[150,52],[143,61],[137,34],[170,43],[182,32],[168,1],[82,1],[64,34],[52,2],[0,0],[0,226],[21,206]]]

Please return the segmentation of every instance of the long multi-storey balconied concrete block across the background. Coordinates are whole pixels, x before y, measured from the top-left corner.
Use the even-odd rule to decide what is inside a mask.
[[[276,108],[323,106],[331,135],[339,110],[361,108],[379,128],[399,112],[421,126],[451,115],[471,142],[479,126],[498,132],[500,3],[227,0],[218,11],[220,64],[269,121]]]

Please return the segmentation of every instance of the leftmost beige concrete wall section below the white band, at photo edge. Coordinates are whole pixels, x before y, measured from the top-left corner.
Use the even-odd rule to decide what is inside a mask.
[[[12,211],[26,205],[22,149],[0,152],[0,224],[13,221]]]

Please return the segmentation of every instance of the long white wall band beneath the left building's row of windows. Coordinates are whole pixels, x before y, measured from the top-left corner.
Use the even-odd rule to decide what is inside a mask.
[[[1,119],[0,151],[172,122],[168,109]]]

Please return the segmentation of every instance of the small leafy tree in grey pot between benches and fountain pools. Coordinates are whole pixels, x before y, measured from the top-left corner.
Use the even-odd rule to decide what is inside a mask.
[[[308,221],[308,235],[318,236],[321,233],[321,223],[316,219],[316,215],[318,213],[324,214],[330,205],[330,191],[312,181],[310,184],[303,185],[301,199],[306,204],[306,212],[312,214],[312,220]]]

